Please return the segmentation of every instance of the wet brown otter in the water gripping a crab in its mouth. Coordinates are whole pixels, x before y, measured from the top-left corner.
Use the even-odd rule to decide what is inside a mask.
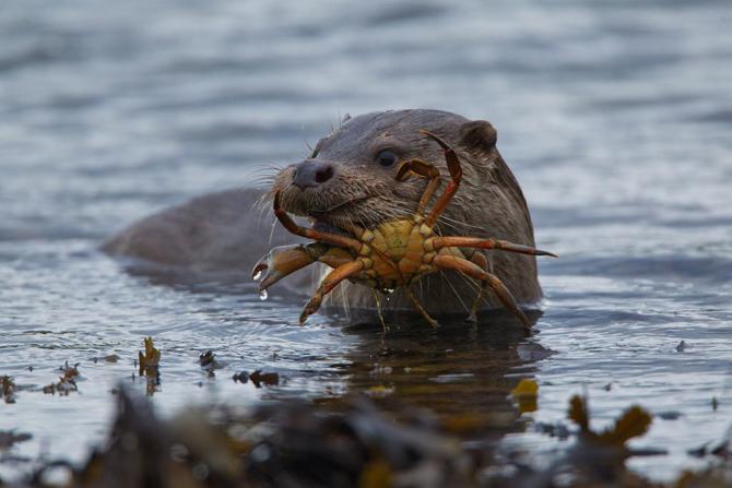
[[[269,207],[268,197],[276,190],[285,211],[329,231],[339,231],[347,222],[373,228],[413,212],[425,182],[420,178],[398,181],[398,162],[429,162],[444,181],[449,178],[441,151],[420,134],[421,129],[447,141],[462,165],[462,186],[438,219],[440,231],[534,247],[526,199],[496,147],[494,127],[447,111],[408,109],[344,119],[307,159],[281,169],[263,198],[257,190],[202,197],[133,224],[108,240],[104,250],[191,270],[240,271],[244,278],[269,248],[296,240],[279,233],[270,241],[265,225],[273,221],[271,213],[252,209],[258,200]],[[533,255],[488,251],[486,257],[519,303],[531,307],[541,299]],[[302,281],[293,283],[299,286]],[[412,291],[429,314],[440,317],[469,310],[475,289],[467,277],[441,272],[425,276]],[[376,300],[369,288],[344,282],[323,306],[359,311],[376,310],[377,305],[385,311],[412,309],[400,289],[380,303]],[[493,295],[484,303],[484,308],[499,307]]]

